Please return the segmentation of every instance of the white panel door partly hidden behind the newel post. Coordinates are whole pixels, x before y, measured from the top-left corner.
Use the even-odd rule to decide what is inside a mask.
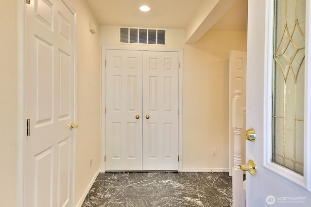
[[[229,57],[229,175],[232,176],[234,129],[232,127],[232,99],[234,92],[242,92],[243,108],[246,105],[246,52],[230,50]],[[243,115],[243,128],[245,131],[245,115]],[[241,140],[242,161],[245,160],[245,140]]]

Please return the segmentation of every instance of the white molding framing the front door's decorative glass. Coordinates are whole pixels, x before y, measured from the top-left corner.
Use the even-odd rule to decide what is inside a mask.
[[[308,165],[311,160],[311,152],[310,146],[311,141],[307,139],[308,135],[310,137],[311,128],[311,73],[309,70],[305,70],[305,123],[304,123],[304,176],[295,173],[292,170],[289,170],[283,166],[280,166],[271,161],[272,159],[272,88],[273,88],[273,74],[271,71],[273,70],[273,22],[274,22],[274,2],[273,1],[266,1],[266,28],[265,28],[265,67],[264,67],[264,95],[263,95],[263,107],[265,113],[264,120],[266,123],[264,124],[263,128],[263,144],[264,144],[264,152],[263,152],[263,167],[271,170],[272,172],[276,173],[292,181],[293,183],[306,188],[308,191],[311,190],[311,166]],[[307,0],[307,8],[310,8],[309,0]],[[307,11],[310,11],[310,9]],[[311,58],[311,54],[308,52],[308,48],[311,47],[309,43],[309,36],[308,36],[308,28],[309,28],[309,21],[310,16],[309,13],[306,13],[306,57],[305,57],[305,68],[310,68],[309,58]],[[308,105],[309,104],[309,105]],[[309,116],[308,116],[309,115]]]

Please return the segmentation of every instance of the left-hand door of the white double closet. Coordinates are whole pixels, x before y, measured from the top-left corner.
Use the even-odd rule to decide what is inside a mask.
[[[106,171],[139,171],[142,51],[106,50],[106,60]]]

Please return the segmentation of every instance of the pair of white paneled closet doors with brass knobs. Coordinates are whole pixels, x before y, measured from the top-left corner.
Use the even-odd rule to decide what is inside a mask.
[[[178,170],[178,58],[106,50],[106,171]]]

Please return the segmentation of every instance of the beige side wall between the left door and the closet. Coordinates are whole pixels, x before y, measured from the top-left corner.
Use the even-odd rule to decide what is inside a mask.
[[[69,0],[77,13],[77,136],[76,202],[84,199],[100,168],[100,45],[99,32],[89,32],[98,22],[85,0]],[[92,167],[90,167],[92,159]],[[83,200],[82,200],[83,201]]]

